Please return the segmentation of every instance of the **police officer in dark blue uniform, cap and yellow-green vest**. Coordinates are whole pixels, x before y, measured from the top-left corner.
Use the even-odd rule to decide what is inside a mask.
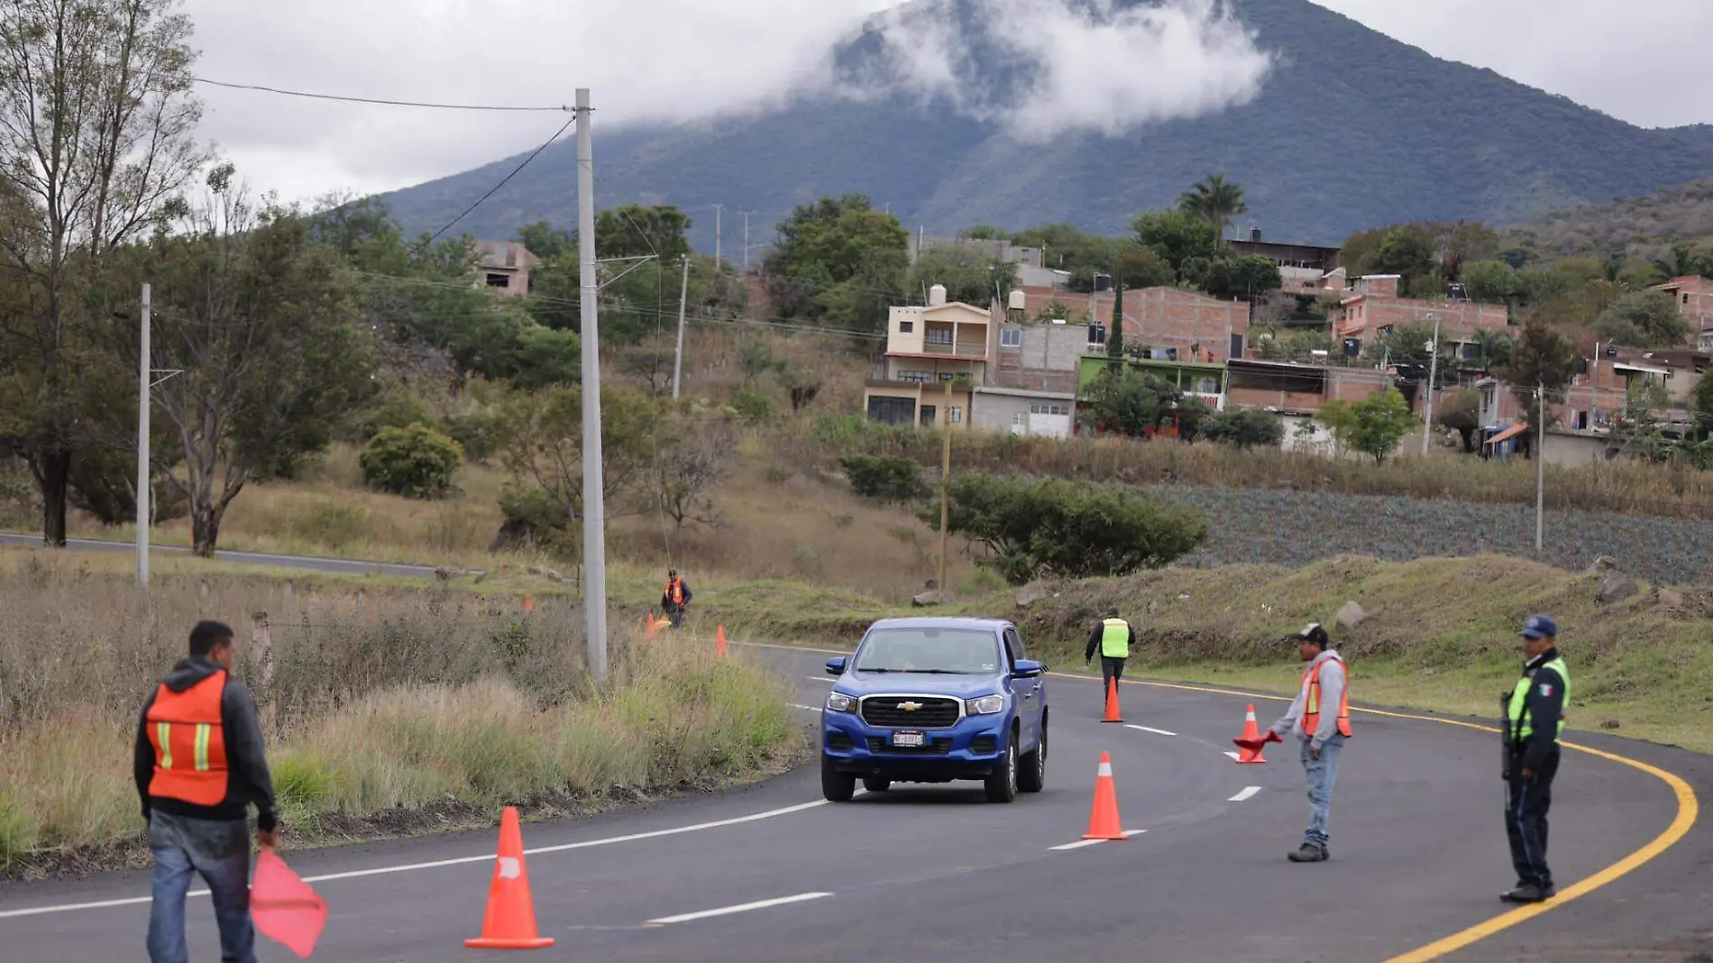
[[[1559,775],[1559,737],[1571,673],[1559,656],[1559,625],[1547,615],[1523,624],[1523,679],[1502,696],[1506,834],[1516,886],[1501,894],[1507,903],[1540,903],[1557,894],[1547,867],[1547,810],[1552,780]]]

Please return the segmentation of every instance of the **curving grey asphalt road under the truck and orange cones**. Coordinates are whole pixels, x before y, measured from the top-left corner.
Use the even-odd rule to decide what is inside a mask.
[[[797,680],[798,704],[819,706],[822,656],[757,655]],[[1149,732],[1096,721],[1098,684],[1053,677],[1048,691],[1048,787],[1011,805],[982,802],[975,783],[833,805],[805,768],[747,790],[526,826],[526,846],[550,850],[529,857],[529,876],[541,929],[558,939],[536,958],[1382,961],[1506,912],[1497,893],[1511,870],[1492,735],[1358,715],[1341,763],[1333,862],[1295,865],[1283,858],[1307,816],[1295,757],[1281,745],[1269,747],[1266,766],[1225,756],[1252,699],[1125,685],[1127,721],[1160,730]],[[1262,718],[1276,709],[1257,703]],[[1578,740],[1713,793],[1713,759]],[[1112,752],[1124,822],[1143,833],[1055,850],[1081,838],[1101,751]],[[1679,799],[1660,778],[1569,752],[1552,822],[1561,884],[1624,860],[1677,814]],[[492,846],[483,833],[293,855],[300,872],[334,876],[317,882],[332,918],[315,958],[505,960],[461,944],[481,924]],[[1710,869],[1713,833],[1696,824],[1634,872],[1446,958],[1691,960],[1713,948],[1698,936],[1713,929]],[[31,910],[146,893],[142,874],[0,888],[0,946],[7,960],[31,963],[137,958],[140,900]],[[661,922],[750,903],[764,906]],[[204,901],[192,908],[192,946],[199,960],[216,958]],[[1662,949],[1672,946],[1680,951]],[[262,960],[291,956],[267,944]]]

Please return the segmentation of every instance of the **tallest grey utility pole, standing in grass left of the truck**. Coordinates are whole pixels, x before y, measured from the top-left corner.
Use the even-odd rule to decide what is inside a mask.
[[[577,87],[577,260],[582,295],[582,622],[589,675],[606,679],[606,499],[601,495],[601,344],[594,276],[589,89]]]

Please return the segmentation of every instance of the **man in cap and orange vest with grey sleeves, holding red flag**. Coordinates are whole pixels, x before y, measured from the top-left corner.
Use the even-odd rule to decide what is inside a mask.
[[[1345,684],[1345,660],[1338,649],[1329,648],[1324,625],[1312,622],[1292,636],[1292,641],[1309,667],[1302,672],[1302,687],[1290,709],[1269,727],[1273,735],[1293,733],[1302,742],[1302,768],[1309,776],[1309,829],[1302,836],[1302,846],[1288,858],[1326,862],[1338,756],[1350,739],[1350,689]]]

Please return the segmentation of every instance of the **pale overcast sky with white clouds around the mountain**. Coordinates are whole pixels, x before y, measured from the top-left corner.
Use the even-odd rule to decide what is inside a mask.
[[[1146,123],[1218,110],[1264,84],[1268,51],[1208,9],[1089,29],[1064,0],[999,0],[1019,51],[1059,65],[1014,111],[1050,125]],[[1096,0],[1100,2],[1100,0]],[[1314,0],[1429,53],[1490,67],[1644,127],[1713,123],[1713,0]],[[601,120],[764,110],[821,82],[821,51],[898,0],[185,0],[197,74],[387,99],[560,105],[594,91]],[[889,33],[923,94],[968,99],[956,45]],[[1122,55],[1122,57],[1117,57]],[[1149,63],[1115,75],[1105,65]],[[307,101],[202,86],[202,134],[257,190],[308,199],[391,190],[526,151],[558,113],[466,113]],[[1067,106],[1096,105],[1098,117]]]

